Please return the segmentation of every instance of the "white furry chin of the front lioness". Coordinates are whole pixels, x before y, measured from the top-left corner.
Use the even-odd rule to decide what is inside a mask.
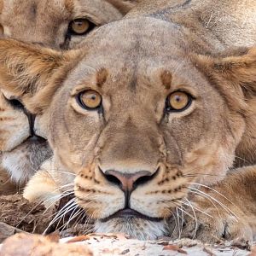
[[[123,233],[138,240],[156,240],[169,233],[165,220],[150,221],[132,217],[96,220],[94,230],[97,233]]]

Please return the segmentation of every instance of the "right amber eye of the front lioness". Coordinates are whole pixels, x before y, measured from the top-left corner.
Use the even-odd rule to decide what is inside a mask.
[[[166,107],[168,111],[183,111],[186,108],[189,108],[191,102],[192,96],[183,91],[175,91],[168,96]]]

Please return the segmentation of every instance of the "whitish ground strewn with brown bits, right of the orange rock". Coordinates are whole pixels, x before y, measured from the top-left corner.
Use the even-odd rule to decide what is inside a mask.
[[[63,239],[61,242],[68,241]],[[85,244],[94,255],[248,255],[249,251],[230,244],[224,245],[204,245],[200,241],[183,239],[180,241],[137,241],[133,239],[120,239],[119,237],[91,236],[89,240],[77,242]],[[256,255],[256,254],[255,254]]]

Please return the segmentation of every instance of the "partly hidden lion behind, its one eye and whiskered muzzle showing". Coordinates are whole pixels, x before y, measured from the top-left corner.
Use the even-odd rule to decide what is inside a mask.
[[[134,5],[123,0],[0,0],[0,36],[72,49],[95,27],[119,20]],[[8,91],[0,92],[0,132],[1,168],[16,183],[26,183],[51,150],[36,117]],[[1,177],[6,179],[4,173]]]

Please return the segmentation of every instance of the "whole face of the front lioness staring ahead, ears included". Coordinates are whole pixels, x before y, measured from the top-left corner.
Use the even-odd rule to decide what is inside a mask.
[[[196,185],[216,183],[232,166],[245,128],[241,84],[255,80],[253,52],[191,55],[176,26],[151,18],[102,26],[73,57],[46,49],[40,57],[4,40],[0,49],[0,67],[14,63],[0,79],[47,124],[55,159],[75,173],[77,202],[96,231],[165,235],[166,219]],[[14,49],[31,58],[22,62]],[[35,63],[41,69],[30,69]],[[15,73],[21,64],[28,71]],[[10,76],[33,89],[17,88]]]

